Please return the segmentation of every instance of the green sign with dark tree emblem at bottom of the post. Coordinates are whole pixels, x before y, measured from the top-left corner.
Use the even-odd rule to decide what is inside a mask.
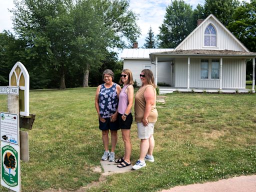
[[[18,153],[11,145],[5,145],[1,151],[1,176],[8,186],[18,185]]]

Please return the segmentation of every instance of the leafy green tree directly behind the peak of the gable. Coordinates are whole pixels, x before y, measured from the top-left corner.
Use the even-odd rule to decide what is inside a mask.
[[[232,14],[238,5],[238,0],[205,0],[204,18],[212,13],[220,22],[227,26],[232,21]]]

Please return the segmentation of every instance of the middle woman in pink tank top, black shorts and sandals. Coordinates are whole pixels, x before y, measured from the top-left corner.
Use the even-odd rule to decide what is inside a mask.
[[[124,141],[124,155],[116,159],[119,163],[117,167],[125,167],[130,165],[130,126],[132,123],[131,107],[133,104],[133,79],[129,69],[123,69],[120,77],[120,84],[123,84],[122,90],[119,94],[118,102],[118,121],[122,132],[122,139]]]

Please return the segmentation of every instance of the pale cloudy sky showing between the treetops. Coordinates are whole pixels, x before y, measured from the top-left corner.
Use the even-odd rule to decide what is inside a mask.
[[[204,0],[184,0],[194,9],[199,3],[204,4]],[[242,1],[242,0],[240,0]],[[249,1],[249,0],[245,0]],[[142,47],[145,43],[145,37],[149,27],[152,27],[154,35],[159,33],[159,26],[162,24],[165,9],[170,4],[171,0],[130,0],[130,9],[138,14],[137,24],[140,27],[141,35],[137,39],[138,47]],[[13,0],[0,0],[0,32],[12,29],[11,16],[12,13],[8,9],[14,8]]]

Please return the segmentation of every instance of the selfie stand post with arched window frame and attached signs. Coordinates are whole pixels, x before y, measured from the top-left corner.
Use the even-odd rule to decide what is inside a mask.
[[[0,112],[1,185],[8,191],[21,191],[20,159],[28,161],[28,134],[19,127],[31,129],[34,114],[29,114],[29,74],[21,62],[9,73],[9,86],[0,86],[7,94],[8,112]],[[21,122],[21,123],[20,123]]]

